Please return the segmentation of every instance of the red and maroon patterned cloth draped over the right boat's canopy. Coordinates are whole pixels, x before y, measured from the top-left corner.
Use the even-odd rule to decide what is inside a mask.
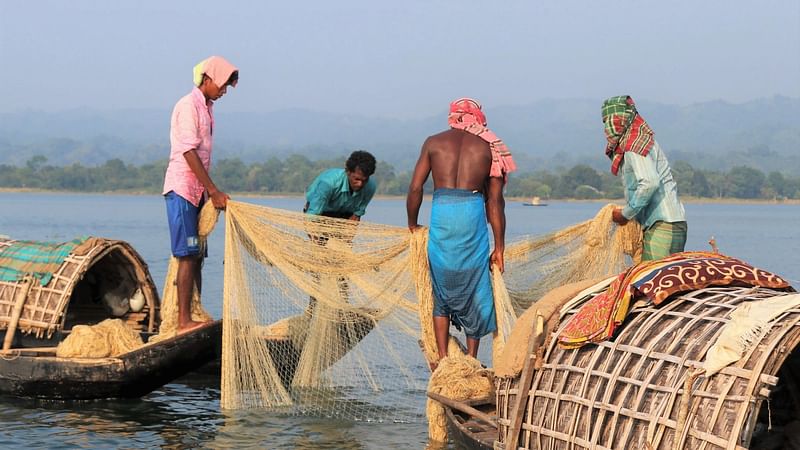
[[[608,289],[587,301],[558,336],[564,348],[610,339],[625,320],[631,301],[645,296],[659,305],[671,295],[725,285],[791,288],[783,278],[719,253],[683,252],[641,262],[622,272]]]

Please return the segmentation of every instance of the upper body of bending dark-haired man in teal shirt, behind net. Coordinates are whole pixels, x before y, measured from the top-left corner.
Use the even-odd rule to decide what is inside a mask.
[[[303,212],[360,221],[378,186],[370,178],[374,173],[375,157],[369,152],[354,151],[344,169],[328,169],[308,186]]]

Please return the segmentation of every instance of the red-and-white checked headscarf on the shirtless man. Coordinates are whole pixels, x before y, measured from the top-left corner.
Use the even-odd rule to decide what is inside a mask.
[[[503,177],[508,182],[508,174],[517,170],[506,144],[490,129],[486,128],[486,116],[481,111],[481,104],[471,98],[460,98],[450,103],[450,114],[447,116],[450,128],[464,130],[489,143],[492,151],[492,167],[490,177]]]

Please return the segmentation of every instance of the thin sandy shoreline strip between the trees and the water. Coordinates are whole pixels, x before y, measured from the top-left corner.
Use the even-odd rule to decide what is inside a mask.
[[[140,195],[140,196],[157,196],[158,192],[147,191],[104,191],[104,192],[86,192],[86,191],[51,191],[47,189],[29,189],[29,188],[0,188],[0,194],[56,194],[56,195]],[[303,193],[269,193],[262,194],[258,192],[229,192],[231,196],[243,198],[301,198]],[[430,198],[431,194],[425,194],[425,198]],[[375,195],[375,199],[379,200],[404,200],[404,195]],[[530,197],[506,197],[506,203],[522,202],[527,203]],[[759,199],[759,198],[707,198],[707,197],[681,197],[681,202],[688,204],[705,204],[705,203],[722,203],[722,204],[740,204],[740,205],[800,205],[800,199]],[[618,203],[622,204],[621,198],[595,198],[595,199],[575,199],[575,198],[560,198],[560,199],[542,199],[543,202],[548,204],[555,203]]]

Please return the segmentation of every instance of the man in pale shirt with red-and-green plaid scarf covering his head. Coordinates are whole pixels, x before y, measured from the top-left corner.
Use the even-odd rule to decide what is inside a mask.
[[[682,252],[686,245],[686,214],[667,157],[653,130],[628,95],[604,101],[602,115],[611,173],[618,175],[622,169],[625,188],[626,204],[613,211],[612,220],[625,225],[635,219],[642,225],[644,261]]]

